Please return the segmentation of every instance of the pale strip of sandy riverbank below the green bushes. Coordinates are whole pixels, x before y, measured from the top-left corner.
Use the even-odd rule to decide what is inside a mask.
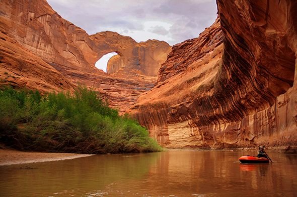
[[[0,165],[57,161],[92,155],[94,154],[23,152],[18,150],[0,149]]]

